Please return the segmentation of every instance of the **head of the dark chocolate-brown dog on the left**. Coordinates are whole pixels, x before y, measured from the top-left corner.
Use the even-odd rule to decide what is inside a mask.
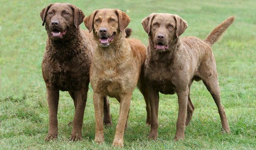
[[[85,15],[78,7],[68,3],[53,3],[42,9],[40,17],[45,24],[48,37],[63,39],[70,37],[83,23]]]

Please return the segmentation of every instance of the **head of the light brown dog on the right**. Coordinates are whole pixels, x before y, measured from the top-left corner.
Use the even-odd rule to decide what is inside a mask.
[[[188,27],[187,22],[178,15],[152,13],[142,20],[142,26],[148,33],[150,43],[158,52],[166,52]]]

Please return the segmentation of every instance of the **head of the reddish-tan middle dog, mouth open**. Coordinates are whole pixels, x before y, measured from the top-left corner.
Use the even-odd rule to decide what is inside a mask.
[[[130,17],[119,9],[97,9],[84,19],[89,32],[93,30],[94,38],[102,47],[108,47],[130,23]]]

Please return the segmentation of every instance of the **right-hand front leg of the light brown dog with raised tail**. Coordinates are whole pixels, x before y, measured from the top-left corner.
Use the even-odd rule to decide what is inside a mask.
[[[179,103],[179,112],[178,119],[176,124],[176,134],[174,141],[184,139],[185,134],[185,121],[187,113],[187,101],[189,96],[189,88],[185,90],[177,90],[178,103]]]

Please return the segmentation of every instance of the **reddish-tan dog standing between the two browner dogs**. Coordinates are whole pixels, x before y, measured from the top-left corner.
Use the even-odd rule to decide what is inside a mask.
[[[90,68],[93,88],[96,133],[95,141],[104,142],[102,111],[104,96],[120,102],[114,146],[123,146],[123,134],[133,90],[137,83],[146,101],[147,124],[150,124],[148,91],[144,83],[146,47],[137,39],[126,39],[125,28],[130,17],[118,9],[98,9],[84,19],[89,32],[93,30],[98,48],[95,49]]]

